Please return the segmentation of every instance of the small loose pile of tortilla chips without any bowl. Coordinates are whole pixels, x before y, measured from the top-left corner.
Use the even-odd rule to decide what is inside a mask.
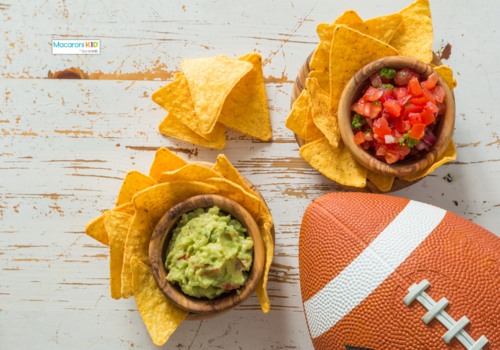
[[[262,57],[224,55],[181,62],[183,73],[156,91],[153,101],[168,111],[160,132],[222,149],[224,126],[262,141],[272,137]]]

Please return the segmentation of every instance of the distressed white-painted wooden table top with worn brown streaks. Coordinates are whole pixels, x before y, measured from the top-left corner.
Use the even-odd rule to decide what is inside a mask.
[[[411,0],[351,0],[362,18]],[[274,138],[229,130],[222,153],[256,184],[276,224],[271,312],[257,298],[184,322],[165,349],[311,349],[302,311],[302,213],[339,188],[298,154],[285,128],[293,81],[345,1],[13,1],[0,4],[0,349],[153,349],[133,298],[113,300],[109,252],[84,234],[113,207],[124,174],[148,172],[168,146],[185,159],[219,151],[166,138],[151,94],[185,58],[260,52]],[[432,203],[500,235],[500,3],[432,1],[434,50],[449,43],[458,87],[458,160],[397,196]],[[100,39],[99,56],[53,56],[51,40]],[[445,54],[445,56],[447,56]],[[91,80],[44,79],[70,67]],[[444,178],[451,174],[453,182]]]

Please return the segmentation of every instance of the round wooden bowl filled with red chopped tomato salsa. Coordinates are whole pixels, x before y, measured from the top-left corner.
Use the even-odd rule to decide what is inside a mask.
[[[387,176],[408,176],[429,167],[448,146],[455,98],[430,65],[385,57],[347,83],[338,119],[342,140],[362,165]]]

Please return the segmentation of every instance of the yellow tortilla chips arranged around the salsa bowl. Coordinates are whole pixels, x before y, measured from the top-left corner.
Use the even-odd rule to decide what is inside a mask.
[[[429,1],[417,0],[398,13],[366,21],[355,11],[346,11],[331,24],[319,24],[316,31],[320,43],[309,64],[306,89],[293,104],[286,126],[306,142],[300,156],[326,177],[354,187],[365,187],[368,178],[380,191],[389,191],[394,177],[363,167],[342,142],[337,118],[339,100],[351,77],[379,58],[402,55],[432,65],[434,37]],[[450,89],[456,87],[451,68],[432,66]],[[429,168],[402,179],[414,181],[427,176],[456,156],[451,140]]]

